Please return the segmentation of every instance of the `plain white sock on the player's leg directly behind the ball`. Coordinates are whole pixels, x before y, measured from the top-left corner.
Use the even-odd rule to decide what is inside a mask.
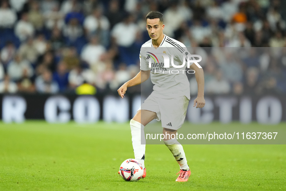
[[[132,135],[132,145],[134,151],[135,159],[139,160],[142,164],[143,169],[145,168],[145,147],[146,140],[144,134],[144,126],[139,122],[131,119],[130,121],[131,135]],[[141,144],[142,138],[142,144]]]

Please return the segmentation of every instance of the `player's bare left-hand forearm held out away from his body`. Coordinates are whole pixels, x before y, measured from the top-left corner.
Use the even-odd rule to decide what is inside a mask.
[[[124,83],[118,90],[118,94],[120,97],[124,97],[124,94],[127,88],[143,83],[148,80],[150,77],[150,70],[140,70],[140,72],[131,80]]]

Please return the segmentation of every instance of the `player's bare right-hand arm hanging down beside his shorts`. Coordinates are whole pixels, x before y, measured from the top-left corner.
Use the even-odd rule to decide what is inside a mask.
[[[196,64],[190,65],[190,69],[195,70],[196,82],[197,82],[197,97],[194,100],[194,106],[196,108],[203,108],[205,106],[204,99],[204,87],[205,87],[205,79],[204,79],[204,71],[203,68],[199,68]]]

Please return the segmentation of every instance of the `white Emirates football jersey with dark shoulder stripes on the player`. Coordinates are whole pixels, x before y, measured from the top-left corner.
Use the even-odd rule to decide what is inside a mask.
[[[163,54],[166,54],[170,59],[169,67],[164,67]],[[184,44],[166,34],[158,48],[153,47],[152,40],[142,45],[139,56],[140,69],[151,70],[151,81],[154,84],[152,96],[161,98],[186,96],[190,99],[190,83],[186,76],[187,61],[181,68],[173,67],[171,64],[171,57],[173,56],[174,65],[181,66],[184,62],[183,54],[190,54]],[[150,60],[151,67],[149,67]]]

